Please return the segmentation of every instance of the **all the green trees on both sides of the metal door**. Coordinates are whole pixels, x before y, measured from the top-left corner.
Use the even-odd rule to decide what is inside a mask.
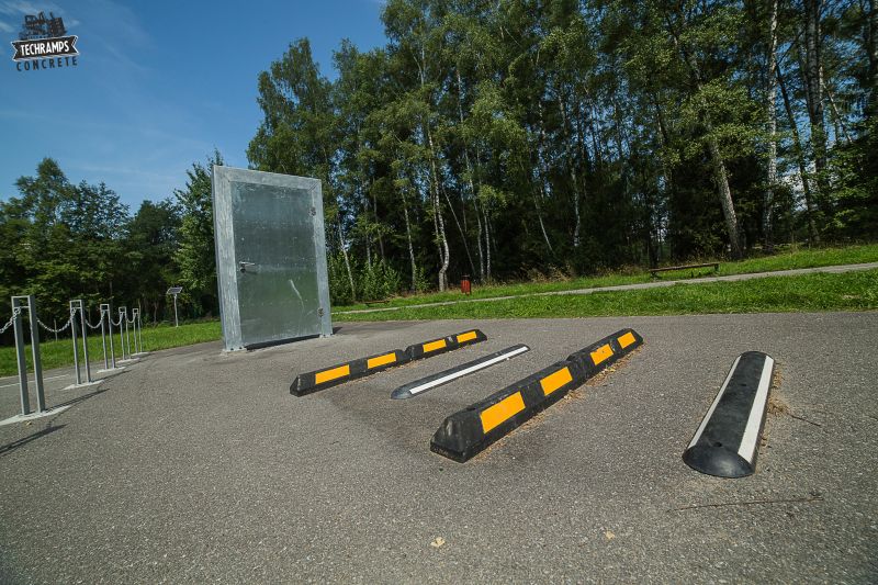
[[[389,0],[331,78],[307,38],[259,74],[247,157],[323,181],[334,303],[873,239],[875,4]],[[0,292],[216,314],[218,162],[131,215],[44,160],[0,203]]]

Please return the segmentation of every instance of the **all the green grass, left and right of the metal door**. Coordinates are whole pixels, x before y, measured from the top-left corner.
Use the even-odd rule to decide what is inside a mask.
[[[720,274],[767,272],[791,268],[810,268],[844,263],[878,261],[878,246],[855,246],[821,250],[799,250],[778,256],[723,262]],[[708,270],[707,273],[712,273]],[[684,274],[671,274],[675,280]],[[609,274],[561,282],[520,283],[477,288],[474,299],[522,295],[532,292],[562,291],[609,286],[632,282],[649,282],[648,272]],[[437,301],[460,300],[459,292],[398,299],[389,303],[410,305]],[[348,307],[352,308],[352,307]],[[768,313],[811,311],[878,310],[878,270],[843,274],[806,274],[777,277],[743,282],[716,282],[673,285],[638,291],[600,292],[586,295],[525,296],[485,303],[424,308],[401,308],[379,313],[336,315],[335,320],[439,319],[439,318],[513,318],[513,317],[587,317],[622,315],[675,315],[694,313]],[[89,353],[92,362],[102,360],[101,337],[90,331]],[[179,328],[160,325],[144,328],[147,351],[188,346],[221,338],[218,322],[181,325]],[[119,336],[116,336],[116,356]],[[44,369],[72,363],[70,339],[45,341],[41,345]],[[30,367],[30,351],[27,352]],[[101,364],[102,365],[102,364]],[[15,373],[15,349],[0,348],[0,375]]]

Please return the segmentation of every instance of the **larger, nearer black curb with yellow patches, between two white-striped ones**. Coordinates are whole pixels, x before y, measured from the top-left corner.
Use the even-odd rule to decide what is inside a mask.
[[[622,329],[447,417],[430,450],[464,462],[643,344]]]

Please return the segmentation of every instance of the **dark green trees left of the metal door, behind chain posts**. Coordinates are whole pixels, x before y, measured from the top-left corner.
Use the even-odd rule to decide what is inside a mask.
[[[57,161],[43,159],[16,181],[19,196],[0,202],[0,297],[36,295],[49,327],[53,317],[66,322],[72,299],[86,302],[92,323],[104,302],[139,306],[144,320],[157,322],[172,314],[168,286],[183,284],[184,315],[215,315],[214,164],[222,164],[218,153],[192,165],[184,189],[132,214],[104,183],[71,183]],[[10,314],[0,304],[3,323]],[[10,330],[3,340],[11,339]]]

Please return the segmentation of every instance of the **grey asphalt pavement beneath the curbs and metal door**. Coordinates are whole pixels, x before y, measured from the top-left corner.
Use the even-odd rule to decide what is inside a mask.
[[[487,341],[289,394],[299,372],[474,326]],[[645,344],[601,380],[466,463],[430,452],[447,415],[622,327]],[[875,583],[876,336],[878,313],[391,322],[155,352],[0,427],[0,581]],[[680,455],[746,350],[777,360],[780,412],[756,474],[701,475]]]

